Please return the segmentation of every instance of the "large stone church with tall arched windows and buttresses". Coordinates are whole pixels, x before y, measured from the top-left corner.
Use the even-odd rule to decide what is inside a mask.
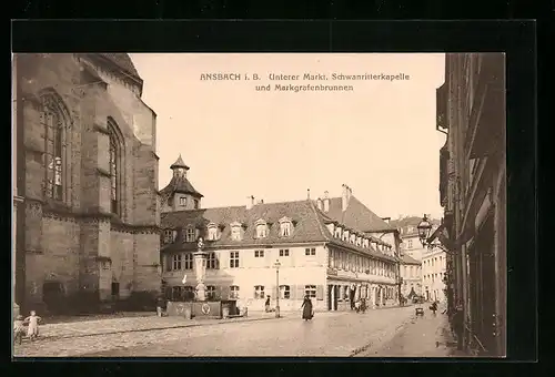
[[[155,114],[130,57],[14,65],[16,303],[60,312],[159,292]]]

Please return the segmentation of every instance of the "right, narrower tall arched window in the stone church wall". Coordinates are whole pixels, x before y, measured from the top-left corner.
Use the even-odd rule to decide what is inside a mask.
[[[122,139],[115,122],[108,119],[108,131],[110,135],[110,211],[121,215],[121,157]]]

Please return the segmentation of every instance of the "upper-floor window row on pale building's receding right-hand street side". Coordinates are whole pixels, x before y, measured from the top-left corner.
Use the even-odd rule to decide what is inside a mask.
[[[330,251],[329,265],[331,268],[360,273],[367,272],[371,275],[379,276],[393,277],[396,274],[396,266],[394,264],[339,249]]]

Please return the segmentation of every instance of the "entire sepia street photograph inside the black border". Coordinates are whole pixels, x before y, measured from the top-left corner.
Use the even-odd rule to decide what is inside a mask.
[[[12,356],[506,357],[505,54],[12,54]]]

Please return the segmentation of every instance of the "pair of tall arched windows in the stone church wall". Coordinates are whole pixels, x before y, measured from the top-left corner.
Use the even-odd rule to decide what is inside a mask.
[[[65,131],[70,126],[69,111],[61,98],[53,91],[41,96],[40,123],[44,130],[44,196],[54,201],[63,201],[65,196],[65,147],[68,145]],[[110,175],[110,211],[121,215],[122,193],[121,177],[123,176],[123,137],[115,123],[108,118],[109,134],[109,165]]]

